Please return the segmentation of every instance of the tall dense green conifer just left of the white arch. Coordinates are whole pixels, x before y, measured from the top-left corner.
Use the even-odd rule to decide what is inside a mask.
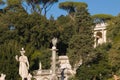
[[[87,9],[78,7],[75,17],[75,34],[69,42],[68,56],[73,67],[79,64],[82,59],[83,64],[90,61],[93,54],[93,33],[92,19]]]

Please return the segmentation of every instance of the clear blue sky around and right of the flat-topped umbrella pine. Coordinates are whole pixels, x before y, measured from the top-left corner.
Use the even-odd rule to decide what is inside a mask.
[[[120,0],[60,0],[85,2],[88,5],[88,11],[91,15],[94,14],[111,14],[116,16],[120,13]],[[60,15],[67,15],[67,12],[58,8],[59,3],[54,4],[51,10],[47,13],[47,18],[51,15],[56,19]]]

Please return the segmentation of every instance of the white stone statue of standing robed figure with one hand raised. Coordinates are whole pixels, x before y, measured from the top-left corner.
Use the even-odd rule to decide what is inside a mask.
[[[16,55],[16,60],[19,61],[19,75],[22,77],[22,80],[28,77],[29,62],[27,56],[24,55],[25,50],[22,48],[20,51],[21,56],[18,58]]]

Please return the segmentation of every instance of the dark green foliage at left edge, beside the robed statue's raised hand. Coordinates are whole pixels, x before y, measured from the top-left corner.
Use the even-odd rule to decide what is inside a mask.
[[[15,40],[5,41],[0,45],[0,73],[6,74],[6,79],[16,79],[18,75],[18,64],[15,55],[18,55],[20,44]]]

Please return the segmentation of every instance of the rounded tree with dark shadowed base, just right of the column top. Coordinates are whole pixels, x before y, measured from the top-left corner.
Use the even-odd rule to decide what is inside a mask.
[[[73,27],[74,22],[70,19],[69,16],[60,16],[58,17],[56,24],[59,30],[58,52],[59,55],[66,55],[69,40],[75,33]]]

